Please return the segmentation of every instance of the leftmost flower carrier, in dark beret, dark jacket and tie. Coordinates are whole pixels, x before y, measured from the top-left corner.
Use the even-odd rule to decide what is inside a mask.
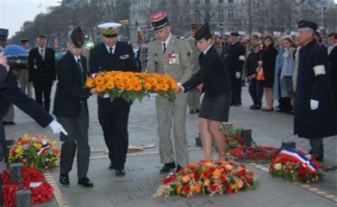
[[[55,93],[54,113],[69,133],[60,135],[60,140],[63,141],[60,157],[60,184],[69,185],[68,173],[73,167],[78,146],[78,184],[91,187],[92,181],[87,178],[90,160],[87,98],[95,93],[95,89],[83,87],[87,77],[87,60],[81,55],[84,41],[82,29],[76,26],[68,42],[69,50],[57,65],[58,85]]]

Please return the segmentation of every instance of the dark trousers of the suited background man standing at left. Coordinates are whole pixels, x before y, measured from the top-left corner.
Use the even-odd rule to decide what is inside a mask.
[[[34,84],[35,99],[48,113],[50,108],[50,93],[52,82],[46,84]],[[44,100],[44,101],[43,101]]]

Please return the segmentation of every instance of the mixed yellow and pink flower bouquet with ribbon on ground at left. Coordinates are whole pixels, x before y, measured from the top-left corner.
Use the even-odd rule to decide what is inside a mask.
[[[7,162],[22,163],[26,167],[36,167],[44,170],[58,166],[60,150],[55,147],[56,141],[51,142],[47,136],[23,135],[14,142],[9,150]]]

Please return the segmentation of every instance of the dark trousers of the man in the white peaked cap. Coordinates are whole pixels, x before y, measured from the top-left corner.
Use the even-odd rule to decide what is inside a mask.
[[[97,98],[98,120],[102,126],[105,144],[109,150],[109,159],[115,169],[124,169],[129,147],[129,122],[130,104],[124,99]]]

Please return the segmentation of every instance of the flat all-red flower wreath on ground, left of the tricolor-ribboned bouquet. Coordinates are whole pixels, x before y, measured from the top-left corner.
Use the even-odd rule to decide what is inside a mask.
[[[275,147],[237,147],[230,149],[230,156],[237,161],[265,163],[272,162],[277,157],[279,150]]]

